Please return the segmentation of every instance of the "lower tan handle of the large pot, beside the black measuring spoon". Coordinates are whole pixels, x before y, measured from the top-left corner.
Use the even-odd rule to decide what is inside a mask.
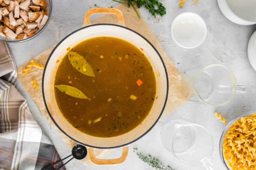
[[[89,151],[91,162],[96,165],[113,165],[123,163],[128,155],[129,146],[123,147],[122,156],[116,159],[97,159],[94,155],[94,148],[87,148]]]

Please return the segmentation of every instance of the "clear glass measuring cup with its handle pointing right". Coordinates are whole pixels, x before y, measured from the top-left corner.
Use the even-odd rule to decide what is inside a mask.
[[[201,70],[192,70],[185,75],[194,93],[207,104],[221,106],[232,100],[236,93],[244,93],[238,86],[235,75],[225,66],[214,64]]]

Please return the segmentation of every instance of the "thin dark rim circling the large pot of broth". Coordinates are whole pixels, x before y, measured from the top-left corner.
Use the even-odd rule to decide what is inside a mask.
[[[44,93],[44,77],[45,77],[45,70],[47,68],[47,64],[52,56],[52,54],[55,52],[55,50],[59,47],[59,45],[65,40],[67,39],[69,36],[72,36],[73,34],[75,34],[76,32],[82,30],[82,29],[85,29],[85,28],[88,28],[88,27],[93,27],[93,26],[99,26],[99,25],[107,25],[107,26],[116,26],[116,27],[121,27],[121,28],[124,28],[124,29],[128,29],[129,31],[139,35],[141,38],[143,38],[145,41],[147,41],[149,43],[149,45],[155,50],[155,52],[158,54],[161,62],[162,62],[162,65],[164,66],[164,69],[165,69],[165,75],[166,75],[166,82],[167,82],[167,88],[166,88],[166,97],[165,97],[165,103],[164,103],[164,106],[158,116],[158,118],[156,119],[156,121],[154,122],[154,124],[144,133],[142,134],[140,137],[136,138],[135,140],[131,141],[131,142],[128,142],[128,143],[125,143],[125,144],[122,144],[122,145],[119,145],[119,146],[115,146],[115,147],[96,147],[96,146],[91,146],[91,145],[88,145],[88,144],[85,144],[85,143],[82,143],[82,142],[79,142],[77,140],[75,140],[74,138],[70,137],[68,134],[66,134],[65,131],[63,131],[59,125],[55,122],[55,120],[53,119],[48,107],[47,107],[47,104],[46,104],[46,100],[45,100],[45,93]],[[166,103],[167,103],[167,98],[168,98],[168,91],[169,91],[169,81],[168,81],[168,74],[167,74],[167,70],[166,70],[166,67],[165,67],[165,63],[161,57],[161,55],[159,54],[158,50],[152,45],[152,43],[147,40],[143,35],[141,35],[140,33],[137,33],[135,30],[133,29],[130,29],[130,28],[127,28],[127,27],[124,27],[124,26],[121,26],[121,25],[116,25],[116,24],[110,24],[110,23],[99,23],[99,24],[93,24],[93,25],[88,25],[88,26],[84,26],[82,28],[79,28],[75,31],[73,31],[72,33],[68,34],[67,36],[65,36],[65,38],[63,38],[55,47],[54,49],[52,50],[51,54],[49,55],[46,63],[45,63],[45,69],[44,69],[44,72],[43,72],[43,78],[42,78],[42,93],[43,93],[43,100],[44,100],[44,105],[45,105],[45,108],[47,110],[47,113],[49,114],[51,120],[53,121],[53,123],[56,125],[56,127],[63,133],[65,134],[67,137],[69,137],[71,140],[79,143],[79,144],[82,144],[82,145],[85,145],[87,147],[90,147],[90,148],[96,148],[96,149],[112,149],[112,148],[121,148],[121,147],[124,147],[124,146],[127,146],[127,145],[130,145],[132,144],[133,142],[139,140],[140,138],[142,138],[143,136],[145,136],[154,126],[155,124],[158,122],[158,120],[160,119],[160,117],[162,116],[162,113],[164,112],[164,109],[165,109],[165,106],[166,106]]]

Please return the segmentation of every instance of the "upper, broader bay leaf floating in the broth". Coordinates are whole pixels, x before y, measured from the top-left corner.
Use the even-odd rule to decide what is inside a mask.
[[[75,53],[75,52],[68,52],[69,62],[72,64],[73,68],[76,69],[78,72],[88,75],[91,77],[95,77],[95,74],[92,70],[91,65],[84,59],[83,56]]]

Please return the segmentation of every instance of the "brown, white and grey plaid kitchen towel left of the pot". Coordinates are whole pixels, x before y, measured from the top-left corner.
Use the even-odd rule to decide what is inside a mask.
[[[0,169],[40,170],[60,157],[15,88],[16,77],[13,57],[0,42]]]

